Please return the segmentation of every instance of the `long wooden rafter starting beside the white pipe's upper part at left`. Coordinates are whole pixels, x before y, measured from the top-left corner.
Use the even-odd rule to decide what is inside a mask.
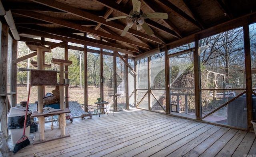
[[[128,44],[140,46],[140,47],[143,47],[143,48],[149,48],[149,46],[147,46],[146,44],[141,44],[141,43],[138,43],[138,42],[135,42],[135,41],[132,41],[132,40],[124,39],[120,36],[114,36],[112,34],[100,32],[100,31],[94,30],[92,28],[87,28],[87,27],[84,27],[84,26],[80,26],[78,24],[74,24],[72,22],[68,22],[68,21],[65,21],[65,20],[52,18],[50,16],[46,16],[44,14],[40,14],[40,13],[37,13],[37,12],[28,12],[28,11],[18,11],[18,10],[16,10],[16,11],[13,12],[13,14],[19,14],[19,15],[35,18],[35,19],[38,19],[38,20],[44,20],[46,22],[51,22],[53,24],[58,24],[60,26],[64,26],[64,27],[67,27],[67,28],[72,28],[72,29],[75,29],[75,30],[79,30],[81,32],[87,32],[87,33],[95,34],[97,36],[102,36],[104,38],[109,38],[109,39],[112,39],[112,40],[122,41],[122,42],[125,42],[125,43],[128,43]]]

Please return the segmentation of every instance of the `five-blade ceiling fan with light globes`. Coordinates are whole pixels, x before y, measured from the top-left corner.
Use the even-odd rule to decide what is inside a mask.
[[[121,19],[121,18],[130,18],[132,21],[127,22],[126,27],[124,28],[121,36],[125,36],[128,32],[129,28],[132,28],[134,24],[137,26],[137,30],[141,30],[142,28],[145,30],[145,32],[151,36],[154,34],[153,30],[146,24],[144,19],[146,18],[162,18],[162,19],[168,19],[168,14],[163,12],[151,12],[151,13],[143,13],[140,10],[140,4],[141,2],[138,0],[132,0],[132,7],[133,10],[130,11],[129,16],[117,16],[114,18],[106,19],[106,21]]]

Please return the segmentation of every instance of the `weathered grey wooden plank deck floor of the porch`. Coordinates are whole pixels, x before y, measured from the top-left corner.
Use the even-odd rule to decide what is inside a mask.
[[[46,123],[46,128],[51,123]],[[54,123],[54,128],[57,128]],[[8,157],[245,157],[256,156],[253,132],[131,109],[67,121],[70,137],[30,144]],[[30,133],[30,142],[34,133]],[[11,147],[10,151],[13,150]],[[246,156],[246,157],[247,157]]]

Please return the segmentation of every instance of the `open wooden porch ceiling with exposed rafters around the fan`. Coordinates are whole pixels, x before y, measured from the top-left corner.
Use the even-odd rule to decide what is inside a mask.
[[[168,19],[145,19],[154,34],[132,26],[132,0],[1,0],[10,8],[20,40],[32,37],[84,44],[136,56],[191,34],[256,11],[255,0],[141,0],[144,13],[165,12]],[[1,19],[3,21],[3,19]],[[92,38],[84,37],[84,33]]]

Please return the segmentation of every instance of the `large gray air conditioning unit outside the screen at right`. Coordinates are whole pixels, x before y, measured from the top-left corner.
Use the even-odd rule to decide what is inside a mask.
[[[234,96],[228,97],[228,101]],[[252,119],[256,119],[256,97],[252,98]],[[247,128],[246,96],[241,96],[228,104],[227,125]]]

